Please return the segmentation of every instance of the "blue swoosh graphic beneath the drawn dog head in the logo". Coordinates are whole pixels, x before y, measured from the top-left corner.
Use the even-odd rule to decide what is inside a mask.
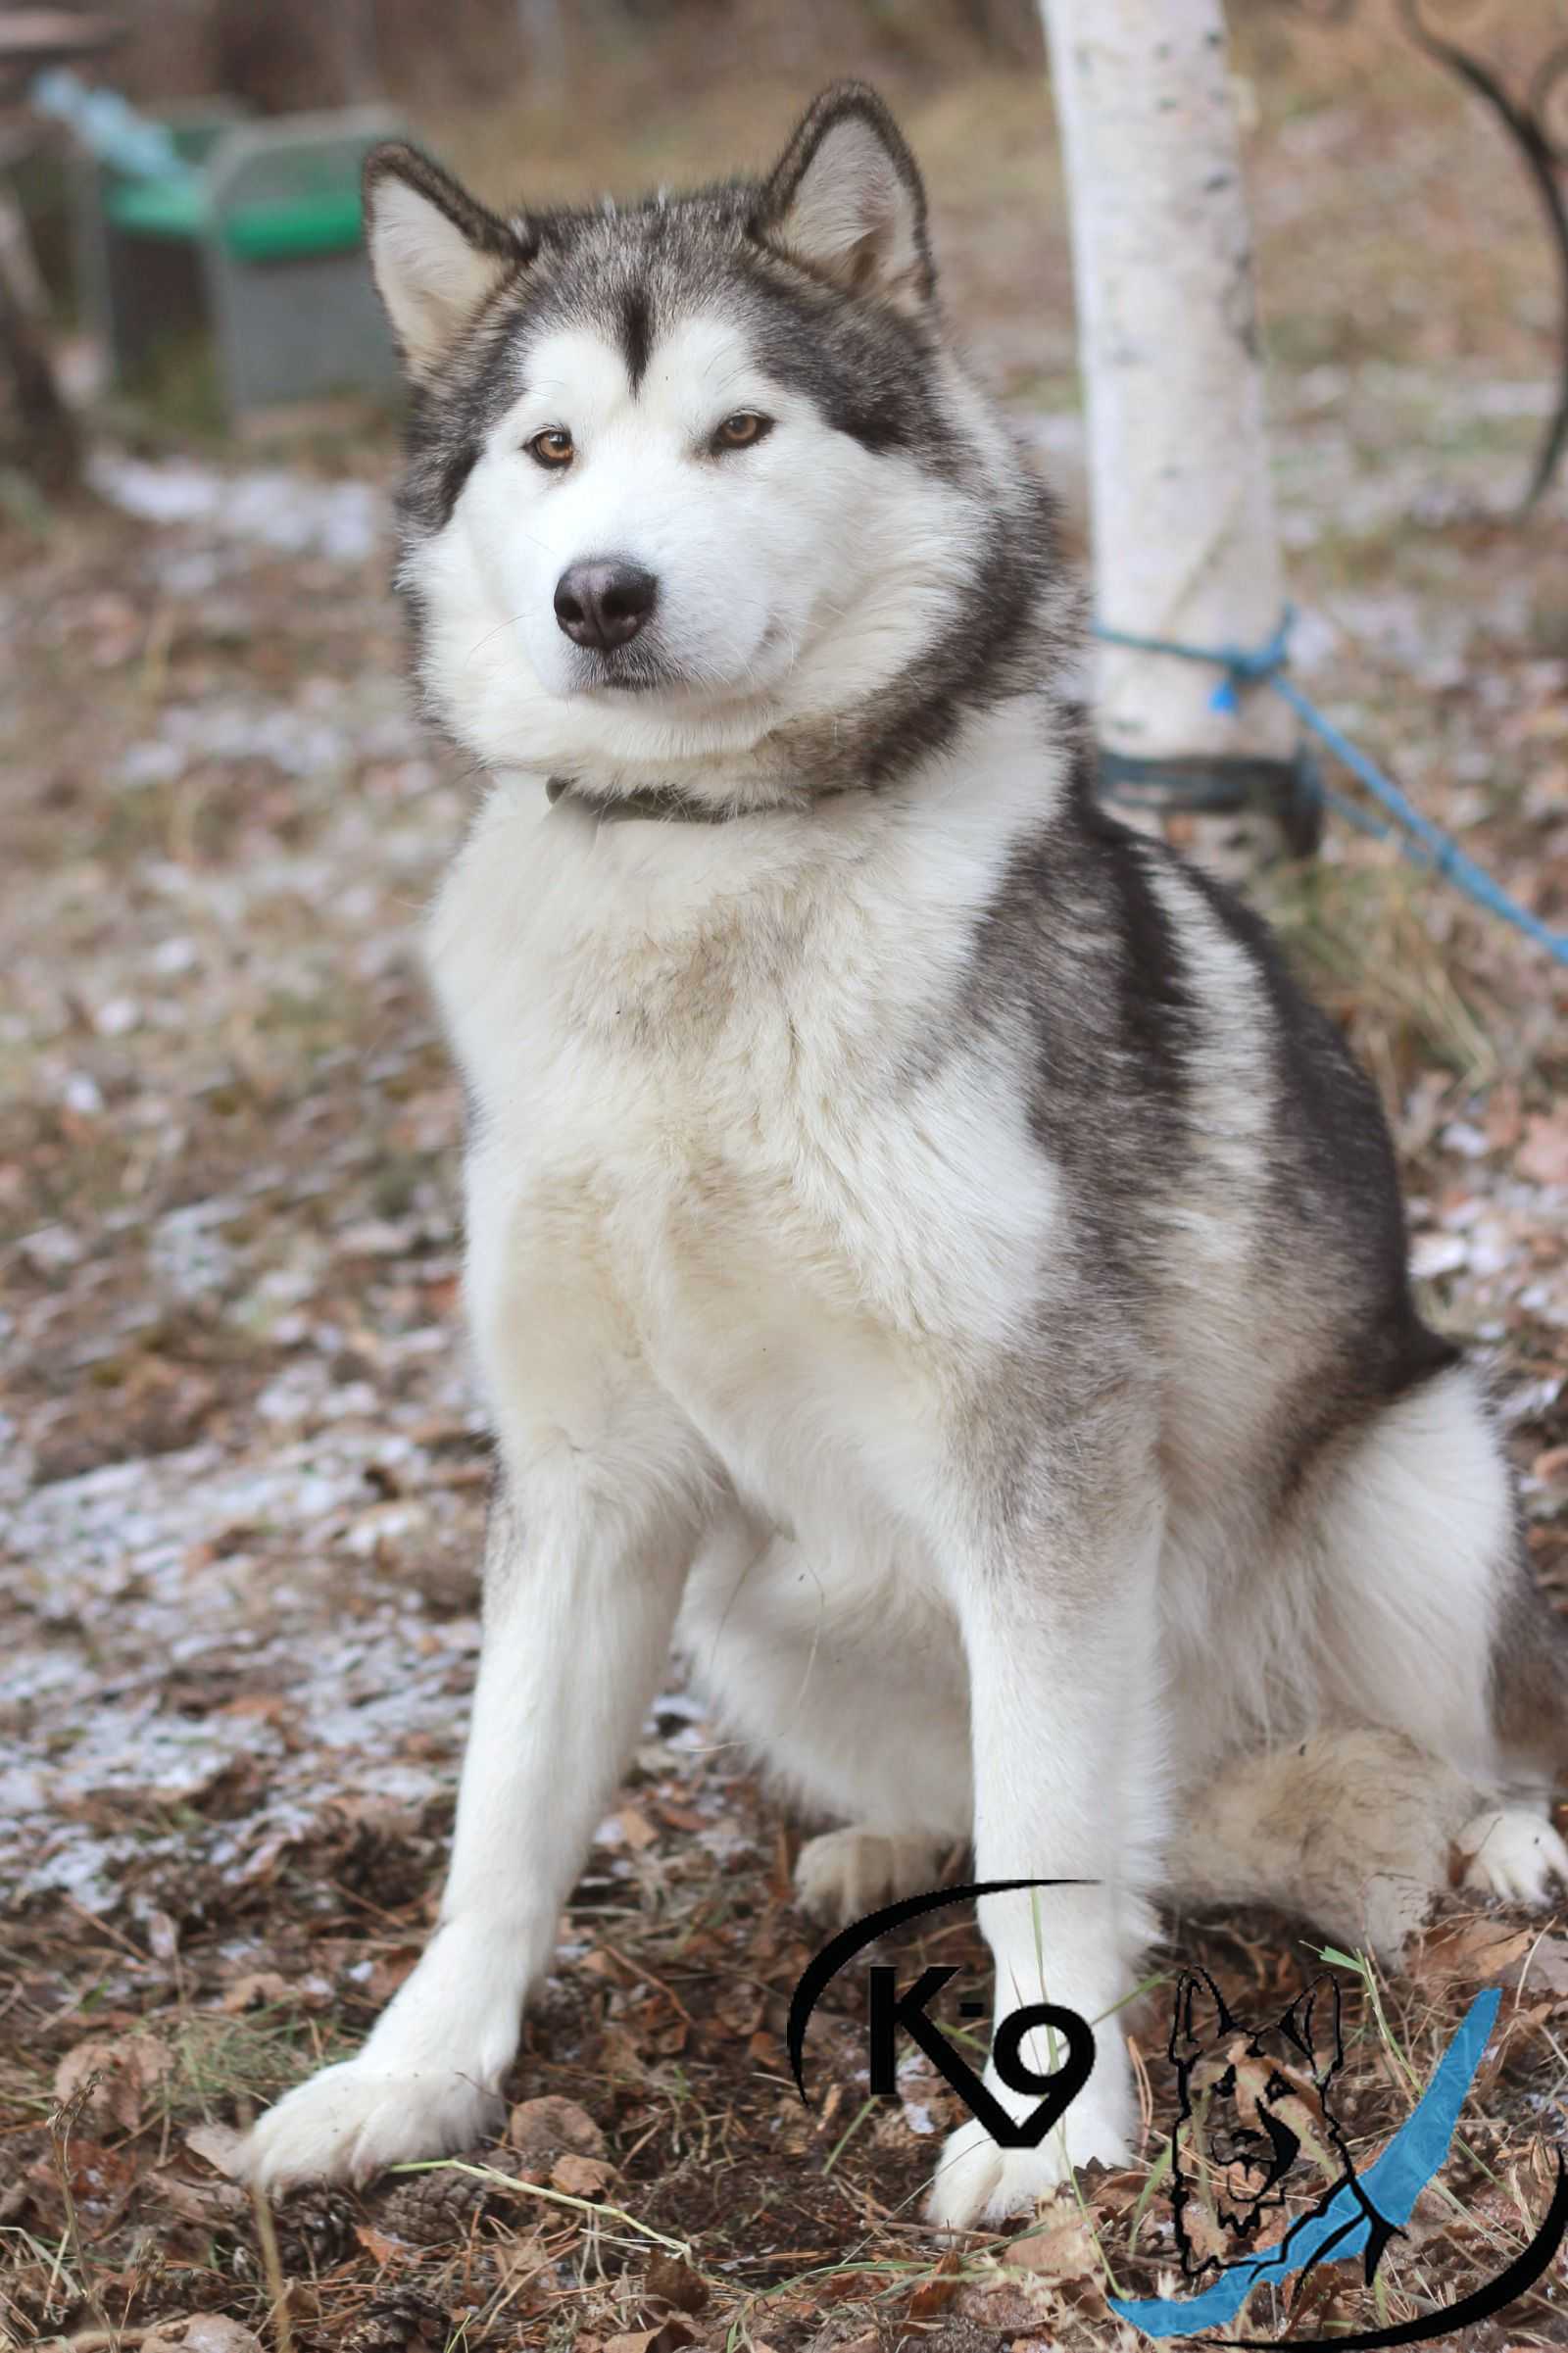
[[[1156,2341],[1201,2337],[1227,2327],[1262,2282],[1278,2285],[1293,2271],[1304,2271],[1307,2264],[1323,2257],[1340,2264],[1351,2254],[1366,2254],[1375,2233],[1382,2245],[1389,2231],[1408,2224],[1415,2200],[1448,2162],[1460,2108],[1476,2080],[1500,2002],[1500,1986],[1488,1986],[1474,1998],[1460,2031],[1439,2059],[1431,2082],[1358,2184],[1342,2184],[1326,2205],[1293,2224],[1276,2247],[1231,2264],[1196,2297],[1144,2297],[1142,2301],[1109,2297],[1116,2318],[1130,2320],[1135,2329]]]

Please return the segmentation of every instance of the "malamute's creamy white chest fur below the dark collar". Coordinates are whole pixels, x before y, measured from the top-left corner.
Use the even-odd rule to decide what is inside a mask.
[[[944,762],[800,816],[494,791],[428,953],[478,1104],[469,1311],[504,1442],[534,1417],[600,1442],[647,1379],[777,1492],[782,1447],[869,1407],[930,1431],[1008,1344],[1052,1181],[963,986],[1052,788],[1017,727],[963,788]]]

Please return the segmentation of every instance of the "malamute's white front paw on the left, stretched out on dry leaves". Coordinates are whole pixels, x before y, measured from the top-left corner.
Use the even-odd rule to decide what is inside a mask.
[[[393,2075],[367,2059],[323,2068],[252,2127],[245,2177],[283,2191],[294,2181],[370,2181],[405,2158],[471,2148],[499,2099],[452,2068]]]

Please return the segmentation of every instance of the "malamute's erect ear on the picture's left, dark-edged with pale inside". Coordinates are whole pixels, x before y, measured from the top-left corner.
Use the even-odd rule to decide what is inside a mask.
[[[410,376],[428,376],[527,240],[419,148],[388,141],[365,158],[365,242]]]

